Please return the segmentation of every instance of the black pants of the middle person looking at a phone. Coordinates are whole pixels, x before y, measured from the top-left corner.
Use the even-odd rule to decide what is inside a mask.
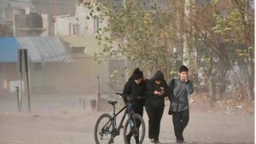
[[[148,138],[159,140],[160,121],[165,107],[146,107],[148,113]]]

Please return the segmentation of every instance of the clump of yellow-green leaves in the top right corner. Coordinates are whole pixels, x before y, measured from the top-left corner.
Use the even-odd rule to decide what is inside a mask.
[[[212,32],[222,38],[230,54],[236,55],[237,60],[244,60],[250,56],[248,49],[254,50],[253,9],[248,7],[247,0],[228,1],[227,4],[229,7],[224,12],[215,5]]]

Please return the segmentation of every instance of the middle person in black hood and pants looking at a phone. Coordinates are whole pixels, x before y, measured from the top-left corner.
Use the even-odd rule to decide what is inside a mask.
[[[147,81],[145,108],[148,113],[148,137],[152,143],[160,143],[160,121],[165,107],[165,97],[169,88],[164,74],[158,70],[154,77]]]

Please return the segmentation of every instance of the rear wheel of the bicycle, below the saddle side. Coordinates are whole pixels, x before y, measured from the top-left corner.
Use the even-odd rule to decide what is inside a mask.
[[[108,113],[102,114],[96,121],[94,139],[96,144],[110,144],[113,141],[112,116]]]

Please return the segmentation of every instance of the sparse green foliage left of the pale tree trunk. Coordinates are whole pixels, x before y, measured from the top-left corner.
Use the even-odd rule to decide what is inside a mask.
[[[104,3],[105,2],[105,3]],[[169,70],[171,60],[167,54],[167,43],[172,43],[172,25],[168,14],[149,13],[142,3],[126,0],[125,7],[109,1],[94,6],[86,3],[86,8],[93,12],[94,7],[102,15],[92,12],[90,17],[108,17],[108,26],[99,30],[96,38],[104,46],[102,55],[125,55],[128,60],[149,72],[158,68]],[[155,8],[156,10],[156,8]],[[169,73],[169,72],[166,72]]]

